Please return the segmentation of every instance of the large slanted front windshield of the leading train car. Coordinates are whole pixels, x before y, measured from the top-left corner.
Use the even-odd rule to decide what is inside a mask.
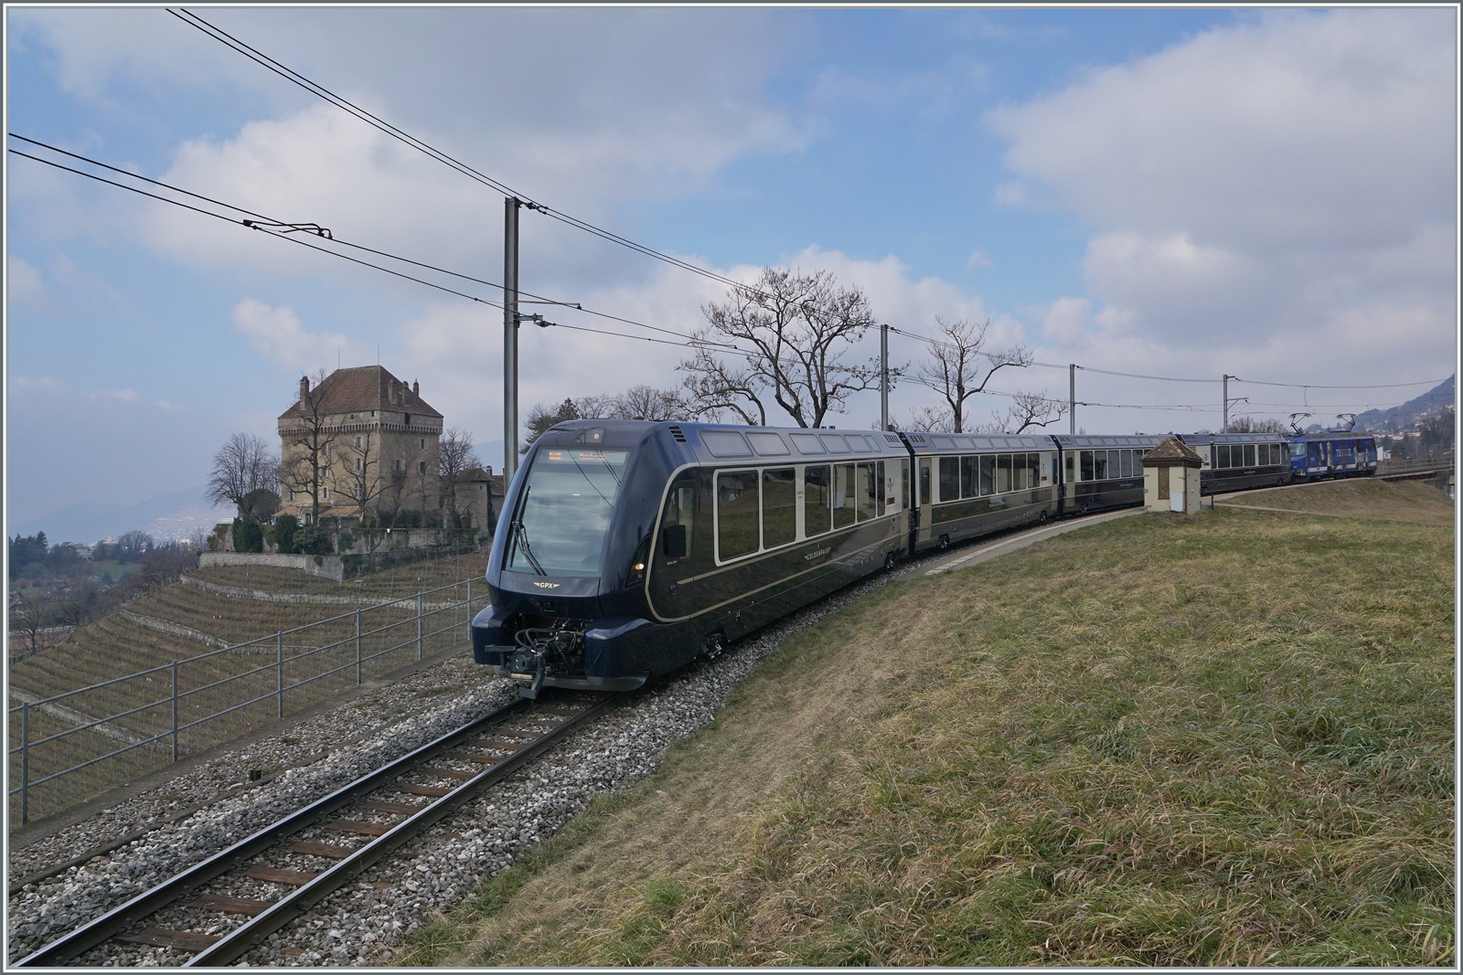
[[[629,453],[573,446],[540,450],[511,525],[506,569],[538,576],[598,576],[604,532]]]

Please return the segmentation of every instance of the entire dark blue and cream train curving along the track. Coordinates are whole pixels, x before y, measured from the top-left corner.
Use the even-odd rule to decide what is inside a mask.
[[[1143,503],[1178,436],[1203,494],[1365,477],[1369,436],[952,434],[575,420],[506,491],[473,656],[519,683],[625,691],[920,553]]]

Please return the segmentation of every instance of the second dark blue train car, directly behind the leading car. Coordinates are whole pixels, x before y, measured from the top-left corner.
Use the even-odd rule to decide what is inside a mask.
[[[1045,436],[898,434],[914,459],[909,554],[1058,513],[1056,446]]]

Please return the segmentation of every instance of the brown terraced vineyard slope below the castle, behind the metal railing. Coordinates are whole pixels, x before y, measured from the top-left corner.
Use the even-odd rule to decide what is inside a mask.
[[[37,788],[29,816],[60,811],[171,762],[173,661],[180,661],[178,748],[187,756],[277,721],[281,680],[284,713],[290,715],[356,687],[357,649],[363,681],[413,664],[418,652],[415,601],[388,604],[391,599],[446,586],[424,599],[420,652],[430,656],[468,646],[471,615],[451,607],[467,598],[470,579],[474,607],[487,604],[487,588],[480,585],[486,560],[451,555],[344,585],[284,569],[199,569],[76,629],[63,643],[13,662],[12,707],[116,681],[31,709],[29,741],[72,732],[29,750],[32,782],[135,746]],[[257,643],[237,646],[250,640]],[[231,713],[212,718],[236,705],[240,707]],[[102,718],[107,721],[85,726]],[[9,721],[16,747],[19,713],[10,713]],[[19,763],[12,762],[10,788],[19,786]],[[10,807],[12,822],[19,823],[16,798]]]

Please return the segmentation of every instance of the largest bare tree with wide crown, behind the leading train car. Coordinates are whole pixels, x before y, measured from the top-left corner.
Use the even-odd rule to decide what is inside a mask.
[[[767,422],[764,398],[783,408],[799,427],[821,427],[850,393],[879,384],[879,367],[843,361],[873,325],[869,300],[857,288],[841,288],[827,270],[800,275],[764,268],[752,285],[732,288],[721,304],[702,308],[708,327],[696,333],[696,354],[677,365],[689,374],[692,406],[730,409],[748,422]],[[715,345],[746,352],[746,365],[727,365]],[[903,367],[890,370],[891,379]]]

